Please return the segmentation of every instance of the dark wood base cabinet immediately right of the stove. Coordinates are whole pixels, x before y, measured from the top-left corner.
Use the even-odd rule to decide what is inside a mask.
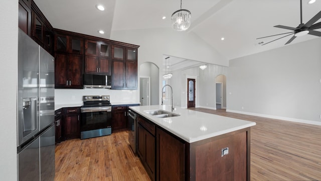
[[[127,120],[127,106],[112,106],[112,124],[111,130],[118,130],[126,128]]]

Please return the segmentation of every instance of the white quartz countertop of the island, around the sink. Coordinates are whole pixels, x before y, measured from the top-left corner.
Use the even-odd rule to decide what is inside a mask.
[[[255,122],[251,121],[182,109],[179,107],[174,111],[175,114],[180,115],[176,117],[157,118],[145,112],[151,110],[165,110],[171,112],[171,106],[166,105],[135,106],[129,107],[129,109],[189,143],[256,125]]]

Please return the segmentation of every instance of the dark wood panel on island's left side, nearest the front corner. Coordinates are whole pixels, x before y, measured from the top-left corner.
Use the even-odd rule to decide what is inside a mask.
[[[157,127],[156,180],[189,180],[188,152],[188,143]]]

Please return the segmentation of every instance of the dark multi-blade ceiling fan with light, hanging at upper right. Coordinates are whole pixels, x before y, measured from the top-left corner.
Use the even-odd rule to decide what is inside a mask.
[[[319,31],[315,31],[315,29],[319,29],[321,28],[321,22],[315,23],[317,20],[319,20],[321,18],[321,11],[318,12],[313,18],[311,18],[308,22],[306,22],[305,24],[302,23],[302,0],[300,0],[300,18],[301,18],[301,23],[299,24],[299,26],[297,26],[296,28],[293,27],[288,27],[288,26],[283,26],[283,25],[276,25],[274,27],[276,28],[282,28],[282,29],[286,29],[286,30],[292,30],[292,32],[287,32],[287,33],[281,33],[281,34],[277,34],[277,35],[284,35],[284,34],[289,34],[289,35],[285,35],[281,38],[293,35],[286,43],[289,44],[291,43],[296,37],[298,36],[303,36],[306,34],[309,35],[314,35],[314,36],[319,36],[321,37],[321,32]],[[315,24],[313,24],[315,23]],[[272,37],[272,36],[277,36],[277,35],[271,35],[271,36],[266,36],[266,37],[261,37],[261,38],[267,38],[267,37]],[[261,38],[257,38],[257,39],[261,39]],[[273,41],[279,40],[281,38],[277,38],[275,40],[272,40],[270,42],[261,44],[261,45],[266,45],[268,43],[271,43]]]

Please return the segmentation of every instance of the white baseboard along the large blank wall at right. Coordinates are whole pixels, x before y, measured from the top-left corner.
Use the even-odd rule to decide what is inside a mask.
[[[235,110],[226,110],[226,112],[245,114],[245,115],[250,115],[250,116],[259,116],[259,117],[263,117],[263,118],[271,118],[271,119],[278,119],[278,120],[283,120],[283,121],[292,121],[292,122],[297,122],[297,123],[305,123],[305,124],[321,126],[321,122],[318,122],[318,121],[302,120],[302,119],[287,118],[287,117],[281,117],[281,116],[272,116],[272,115],[265,115],[265,114],[258,114],[258,113],[249,113],[249,112],[235,111]]]

